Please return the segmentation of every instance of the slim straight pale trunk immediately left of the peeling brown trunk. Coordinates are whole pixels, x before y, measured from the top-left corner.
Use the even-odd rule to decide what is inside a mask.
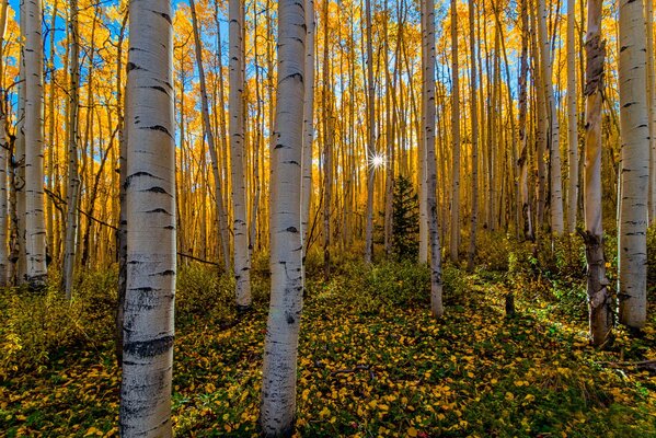
[[[578,209],[578,125],[576,85],[576,43],[574,41],[575,0],[567,0],[567,147],[569,152],[569,182],[567,184],[567,232],[576,231]]]

